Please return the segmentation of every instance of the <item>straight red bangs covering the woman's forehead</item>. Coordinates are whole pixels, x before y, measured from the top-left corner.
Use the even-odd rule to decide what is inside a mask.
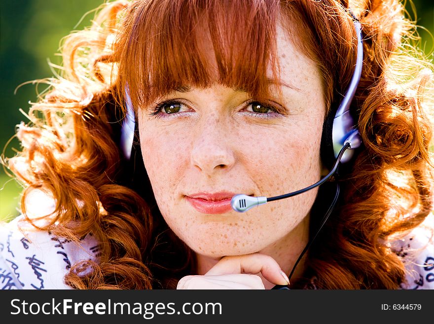
[[[268,96],[279,83],[278,1],[133,2],[117,41],[118,81],[134,107],[212,83]]]

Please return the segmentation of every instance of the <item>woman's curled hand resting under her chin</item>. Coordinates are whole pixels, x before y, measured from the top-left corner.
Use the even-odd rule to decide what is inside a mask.
[[[265,289],[264,279],[288,285],[288,277],[271,256],[253,253],[224,256],[203,276],[181,278],[177,289]]]

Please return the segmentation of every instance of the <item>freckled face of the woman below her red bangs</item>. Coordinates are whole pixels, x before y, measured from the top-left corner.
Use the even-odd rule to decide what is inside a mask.
[[[238,193],[272,197],[320,179],[320,72],[285,33],[279,28],[282,97],[271,87],[268,102],[257,102],[216,83],[159,98],[159,110],[139,109],[142,153],[159,209],[200,255],[278,249],[308,220],[316,189],[246,213],[230,207]]]

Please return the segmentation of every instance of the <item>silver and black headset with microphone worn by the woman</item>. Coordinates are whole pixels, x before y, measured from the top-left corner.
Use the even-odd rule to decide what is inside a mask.
[[[355,121],[350,113],[350,105],[354,98],[354,95],[357,90],[357,86],[359,84],[362,75],[362,65],[363,65],[362,28],[360,22],[354,17],[354,15],[353,15],[353,23],[357,34],[356,66],[350,84],[348,85],[348,89],[345,95],[343,96],[343,99],[340,102],[338,108],[336,109],[334,118],[333,118],[333,114],[330,113],[325,120],[324,128],[323,128],[321,155],[323,161],[330,160],[327,154],[331,155],[331,153],[327,151],[327,147],[330,146],[332,147],[334,153],[334,163],[332,164],[331,171],[323,179],[319,180],[318,182],[306,188],[294,192],[290,192],[287,194],[283,194],[280,196],[267,198],[267,197],[253,197],[245,194],[237,194],[233,196],[231,199],[231,206],[234,211],[239,213],[245,213],[253,207],[264,205],[270,201],[293,197],[295,195],[301,194],[303,192],[311,190],[325,183],[325,181],[327,181],[333,174],[336,173],[340,163],[347,163],[352,160],[355,149],[361,146],[362,139],[355,125]],[[128,86],[125,87],[125,104],[126,104],[127,111],[121,126],[120,148],[123,152],[124,157],[129,161],[131,159],[132,150],[134,146],[133,145],[134,136],[138,132],[138,127],[135,121],[135,113],[134,113],[133,105],[131,103]],[[141,158],[140,149],[138,150],[138,152]],[[143,164],[143,162],[141,162],[141,164]],[[297,264],[303,257],[304,253],[312,245],[313,241],[315,240],[318,233],[321,231],[322,227],[324,226],[326,220],[328,219],[328,216],[330,216],[331,212],[333,211],[333,208],[338,200],[338,197],[339,197],[339,184],[336,182],[335,196],[327,212],[325,213],[325,216],[320,221],[320,225],[317,232],[309,239],[306,247],[300,253],[300,256],[295,262],[291,270],[291,273],[288,276],[289,279],[291,278]],[[288,286],[277,285],[273,289],[289,289],[289,288]]]

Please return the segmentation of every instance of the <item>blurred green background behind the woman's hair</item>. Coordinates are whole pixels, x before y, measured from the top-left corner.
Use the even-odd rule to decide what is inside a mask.
[[[53,76],[48,60],[60,64],[55,55],[60,39],[72,30],[90,25],[93,13],[83,15],[104,3],[104,0],[1,0],[0,4],[0,148],[15,134],[15,125],[27,122],[19,111],[28,111],[29,101],[36,101],[35,85],[15,88],[23,82]],[[413,20],[417,20],[421,42],[419,47],[432,60],[434,34],[434,1],[413,0],[416,16],[410,2],[406,7]],[[43,88],[40,88],[42,90]],[[13,155],[13,147],[19,143],[13,139],[5,155]],[[18,215],[21,188],[0,170],[0,220]]]

